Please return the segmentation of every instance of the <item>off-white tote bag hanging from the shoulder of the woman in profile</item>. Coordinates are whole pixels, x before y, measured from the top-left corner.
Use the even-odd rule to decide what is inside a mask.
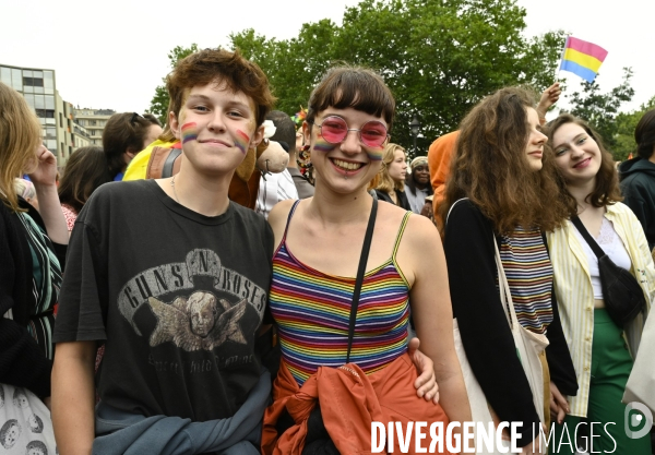
[[[460,201],[463,200],[456,201],[455,204]],[[450,211],[452,211],[455,204],[451,206]],[[450,211],[448,213],[449,216]],[[539,360],[539,356],[541,352],[544,352],[546,346],[548,346],[548,338],[546,338],[545,335],[527,331],[519,323],[519,320],[516,319],[516,311],[514,310],[514,303],[512,301],[512,295],[510,292],[510,286],[508,284],[508,278],[502,267],[498,244],[496,243],[496,238],[493,238],[493,248],[496,251],[496,265],[498,268],[500,301],[503,303],[503,307],[507,303],[509,310],[508,314],[508,311],[505,311],[503,308],[503,313],[508,318],[508,323],[514,338],[514,345],[516,346],[516,352],[521,359],[521,364],[523,366],[523,370],[525,371],[525,375],[533,393],[533,400],[539,416],[539,420],[544,422],[544,370],[541,367],[541,361]],[[475,374],[471,369],[471,364],[468,363],[468,358],[466,357],[466,351],[464,350],[464,346],[462,344],[462,337],[456,319],[453,320],[453,335],[455,340],[455,351],[460,360],[460,367],[462,369],[462,375],[464,378],[466,393],[471,404],[472,419],[474,422],[481,422],[486,428],[488,428],[489,422],[493,422],[493,417],[491,415],[491,410],[489,409],[485,393],[483,392],[483,388],[480,387],[480,384],[475,378]],[[532,429],[522,429],[522,431],[532,431]],[[510,447],[509,441],[503,442],[507,442],[505,447]],[[546,453],[546,441],[544,439],[541,441],[541,447],[543,452]],[[483,444],[483,446],[477,447],[476,453],[479,455],[498,455],[501,453],[507,453],[499,452],[497,448],[498,447],[492,451],[488,451]]]

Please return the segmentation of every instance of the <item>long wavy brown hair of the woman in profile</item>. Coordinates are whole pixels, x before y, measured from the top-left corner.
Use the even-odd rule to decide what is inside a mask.
[[[469,197],[498,234],[511,234],[517,226],[552,230],[562,225],[569,211],[563,200],[553,197],[559,185],[552,153],[544,152],[537,172],[525,157],[527,108],[535,108],[534,93],[507,87],[484,98],[462,120],[439,207],[442,219],[455,201]]]

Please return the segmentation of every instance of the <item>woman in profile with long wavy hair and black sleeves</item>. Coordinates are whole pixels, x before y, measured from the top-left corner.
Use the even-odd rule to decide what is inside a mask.
[[[552,267],[543,240],[543,232],[561,226],[568,215],[564,202],[552,197],[558,187],[552,157],[544,151],[546,139],[529,92],[510,87],[486,97],[460,125],[440,207],[453,315],[466,357],[500,421],[522,422],[517,445],[523,453],[538,450],[532,444],[534,431],[538,434],[539,423],[547,423],[549,371],[541,359],[545,403],[538,409],[501,304],[493,243],[519,323],[548,335],[548,349],[562,359],[550,378],[560,390],[576,391],[553,312]]]

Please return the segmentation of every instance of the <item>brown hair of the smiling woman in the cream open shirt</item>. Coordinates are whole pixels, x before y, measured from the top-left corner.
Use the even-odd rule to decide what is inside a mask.
[[[621,190],[619,188],[619,173],[615,167],[614,158],[603,145],[600,135],[597,134],[584,120],[572,116],[571,113],[561,113],[557,119],[550,121],[546,125],[545,131],[546,135],[548,136],[548,143],[546,144],[548,154],[555,156],[555,152],[552,151],[552,136],[555,135],[556,131],[560,129],[560,127],[567,123],[575,123],[582,127],[590,137],[596,141],[596,144],[598,144],[598,149],[600,151],[600,168],[598,169],[598,173],[596,173],[596,185],[594,187],[594,191],[587,194],[585,201],[592,204],[594,207],[604,207],[606,205],[622,201],[623,197],[621,196]],[[565,181],[563,177],[559,176],[559,171],[558,181],[560,190],[562,191],[562,197],[567,201],[569,206],[570,215],[576,215],[577,203],[567,190]]]

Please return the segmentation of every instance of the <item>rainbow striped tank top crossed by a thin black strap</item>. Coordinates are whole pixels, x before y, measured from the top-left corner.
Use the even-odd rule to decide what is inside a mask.
[[[269,301],[283,358],[302,385],[319,367],[346,362],[355,277],[327,275],[294,258],[286,235],[298,202],[273,255]],[[389,261],[364,276],[350,361],[366,373],[384,368],[407,349],[409,287],[395,256],[410,214],[403,218]]]

